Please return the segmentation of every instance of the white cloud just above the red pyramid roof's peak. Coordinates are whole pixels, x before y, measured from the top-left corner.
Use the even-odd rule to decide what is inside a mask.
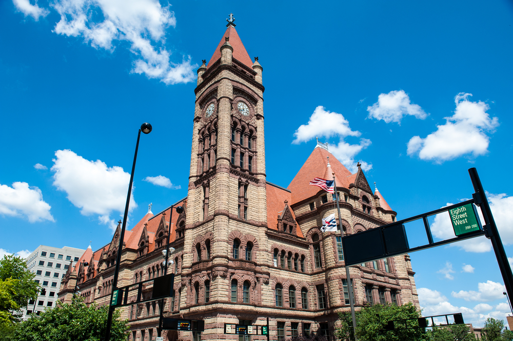
[[[314,137],[340,137],[337,145],[330,145],[329,151],[337,157],[337,159],[346,166],[351,172],[356,172],[358,167],[354,156],[356,156],[363,149],[370,146],[369,139],[360,139],[360,144],[351,145],[344,141],[347,136],[360,136],[359,131],[352,131],[349,127],[347,119],[339,113],[327,111],[323,106],[318,106],[313,111],[313,114],[308,120],[308,124],[301,125],[295,131],[295,139],[293,144],[300,144],[307,142]],[[372,168],[372,164],[360,161],[362,169],[367,171]]]

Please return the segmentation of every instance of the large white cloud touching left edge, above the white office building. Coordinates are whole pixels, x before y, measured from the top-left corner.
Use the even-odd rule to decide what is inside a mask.
[[[12,187],[0,185],[0,214],[9,216],[26,216],[30,223],[50,220],[51,206],[43,200],[43,193],[37,187],[15,182]]]

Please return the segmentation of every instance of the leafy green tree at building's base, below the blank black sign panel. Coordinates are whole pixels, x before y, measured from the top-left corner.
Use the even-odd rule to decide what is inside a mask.
[[[352,319],[350,313],[339,314],[341,328],[337,331],[337,337],[346,339],[348,336],[354,339],[352,333]],[[419,311],[411,303],[404,306],[392,304],[374,305],[372,307],[362,308],[356,312],[356,334],[360,341],[424,341],[429,340],[428,334],[424,328],[417,328],[419,324]],[[407,319],[409,329],[385,331],[385,326],[389,321]],[[395,324],[395,328],[404,326],[400,323]],[[412,327],[412,328],[411,328]]]

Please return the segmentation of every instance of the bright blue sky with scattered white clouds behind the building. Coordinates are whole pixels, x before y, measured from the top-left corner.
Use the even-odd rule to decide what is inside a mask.
[[[0,2],[1,252],[105,245],[143,122],[130,224],[187,195],[196,69],[230,12],[264,69],[270,182],[287,187],[319,136],[406,218],[470,198],[476,167],[513,254],[505,0]],[[504,317],[490,250],[482,237],[412,253],[424,315]]]

